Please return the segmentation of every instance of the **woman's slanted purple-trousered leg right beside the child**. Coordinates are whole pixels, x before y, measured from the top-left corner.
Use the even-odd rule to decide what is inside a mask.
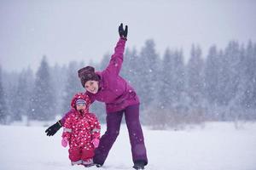
[[[123,111],[107,114],[107,131],[102,135],[100,144],[95,150],[93,161],[96,164],[103,165],[107,159],[108,152],[111,149],[115,139],[119,135],[120,124],[122,121]]]

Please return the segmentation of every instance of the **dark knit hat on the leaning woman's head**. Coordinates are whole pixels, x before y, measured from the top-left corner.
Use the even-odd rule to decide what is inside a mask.
[[[95,69],[92,66],[85,66],[79,69],[78,73],[83,87],[85,82],[89,80],[100,81],[100,77],[95,73]]]

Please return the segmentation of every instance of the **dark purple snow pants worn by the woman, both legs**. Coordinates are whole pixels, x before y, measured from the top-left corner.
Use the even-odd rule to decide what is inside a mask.
[[[139,122],[139,105],[130,105],[123,111],[107,114],[107,131],[102,135],[99,147],[95,150],[95,156],[93,157],[95,163],[103,165],[104,161],[107,159],[108,152],[119,135],[124,113],[130,137],[132,161],[143,161],[145,165],[148,164],[143,130]]]

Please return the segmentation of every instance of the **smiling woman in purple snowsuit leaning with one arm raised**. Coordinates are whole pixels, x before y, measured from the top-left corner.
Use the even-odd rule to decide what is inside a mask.
[[[131,88],[131,85],[119,76],[125,51],[125,42],[128,26],[119,26],[119,41],[114,48],[107,68],[104,71],[96,71],[91,66],[80,69],[79,78],[82,86],[89,95],[91,103],[95,100],[104,102],[107,111],[107,131],[102,135],[100,144],[95,150],[93,158],[97,167],[102,167],[108,156],[115,139],[119,135],[122,116],[125,114],[125,122],[129,131],[132,160],[135,169],[144,169],[148,164],[146,148],[143,139],[143,130],[139,121],[139,99]],[[65,122],[67,115],[61,121],[56,122],[45,132],[54,135]]]

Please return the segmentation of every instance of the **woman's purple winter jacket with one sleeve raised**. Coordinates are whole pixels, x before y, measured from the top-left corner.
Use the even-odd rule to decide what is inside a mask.
[[[124,110],[128,105],[139,104],[135,90],[119,76],[124,60],[125,42],[125,39],[119,38],[107,68],[96,72],[101,77],[99,91],[96,94],[86,92],[91,103],[95,100],[104,102],[107,113]],[[65,122],[66,116],[67,114],[61,119],[61,124]]]

